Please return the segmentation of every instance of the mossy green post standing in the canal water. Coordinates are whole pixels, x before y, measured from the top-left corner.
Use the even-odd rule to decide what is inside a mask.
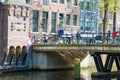
[[[80,80],[80,59],[76,58],[74,61],[75,80]]]

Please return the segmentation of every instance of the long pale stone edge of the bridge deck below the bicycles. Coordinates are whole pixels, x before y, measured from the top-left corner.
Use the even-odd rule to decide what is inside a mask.
[[[79,51],[93,51],[93,52],[114,52],[120,53],[119,46],[33,46],[34,51],[63,51],[63,50],[79,50]]]

